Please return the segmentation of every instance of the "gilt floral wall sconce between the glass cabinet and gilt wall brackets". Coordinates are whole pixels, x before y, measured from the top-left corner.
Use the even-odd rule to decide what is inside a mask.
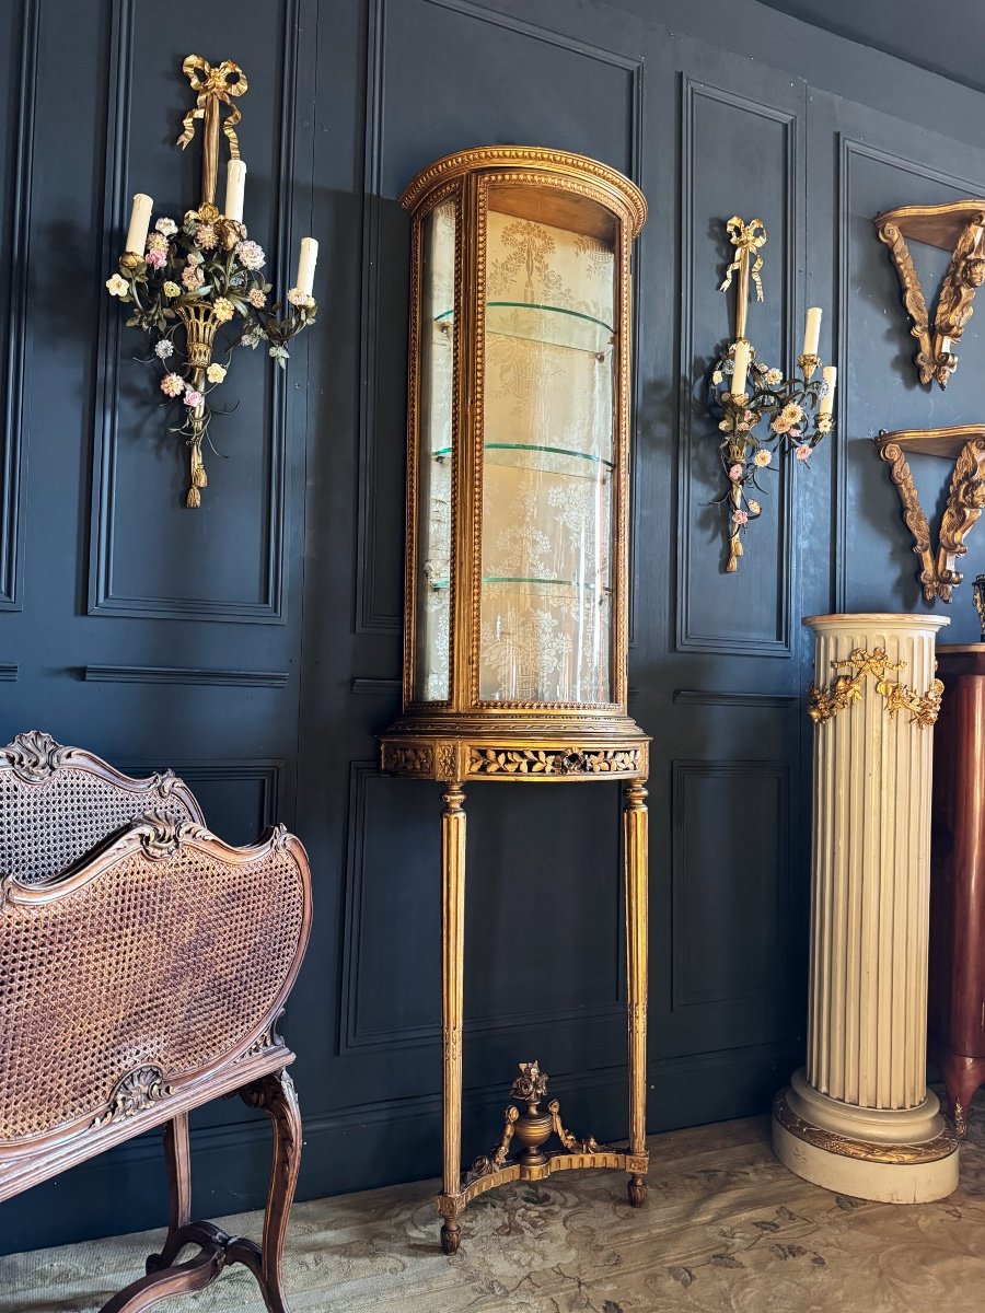
[[[764,492],[759,479],[776,469],[779,461],[774,463],[774,457],[793,456],[797,463],[806,463],[825,433],[834,428],[838,372],[826,366],[814,381],[821,366],[817,355],[821,311],[817,307],[808,310],[804,348],[797,357],[799,377],[784,378],[780,369],[758,358],[746,337],[746,316],[750,280],[756,301],[763,299],[760,251],[766,244],[766,228],[762,219],[745,223],[735,214],[725,231],[735,252],[720,290],[726,291],[737,274],[735,337],[712,366],[708,404],[718,420],[718,454],[726,479],[725,491],[716,498],[728,516],[725,572],[734,574],[743,554],[742,536],[763,513],[753,494]]]

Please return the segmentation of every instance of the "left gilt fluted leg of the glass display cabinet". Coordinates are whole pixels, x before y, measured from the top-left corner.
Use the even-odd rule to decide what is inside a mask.
[[[465,947],[465,792],[449,784],[441,794],[441,1028],[444,1039],[444,1173],[437,1209],[444,1217],[441,1247],[461,1241],[454,1196],[461,1190],[462,1141],[462,964]]]

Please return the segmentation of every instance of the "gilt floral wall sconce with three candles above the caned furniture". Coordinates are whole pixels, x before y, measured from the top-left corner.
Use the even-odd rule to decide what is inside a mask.
[[[189,448],[189,507],[201,504],[208,486],[202,444],[209,440],[209,424],[215,411],[209,394],[226,377],[236,347],[268,344],[268,353],[284,368],[288,347],[296,334],[315,320],[314,286],[318,243],[301,243],[294,286],[288,291],[288,307],[268,305],[271,284],[263,273],[267,257],[250,239],[243,223],[246,164],[239,158],[236,123],[242,114],[234,98],[247,89],[243,70],[223,60],[217,67],[201,55],[188,55],[181,70],[192,83],[196,104],[184,117],[177,144],[184,150],[194,137],[196,119],[202,119],[202,200],[188,210],[181,222],[162,217],[150,231],[154,201],[134,197],[126,249],[120,272],[106,280],[110,295],[131,307],[129,328],[142,328],[156,337],[150,362],[163,369],[160,390],[180,407],[180,421],[171,428]],[[227,108],[221,121],[222,106]],[[222,210],[215,204],[219,167],[219,127],[229,142],[226,197]],[[242,331],[232,336],[243,320]],[[221,358],[215,358],[219,356]]]

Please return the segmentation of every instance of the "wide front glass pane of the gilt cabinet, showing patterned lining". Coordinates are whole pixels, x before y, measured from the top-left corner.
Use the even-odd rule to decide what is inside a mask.
[[[612,221],[517,190],[487,214],[479,697],[608,702]]]

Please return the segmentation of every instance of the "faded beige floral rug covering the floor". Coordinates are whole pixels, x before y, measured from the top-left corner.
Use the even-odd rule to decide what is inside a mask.
[[[298,1204],[294,1313],[980,1313],[985,1308],[985,1104],[961,1184],[939,1204],[863,1203],[809,1186],[770,1150],[764,1117],[651,1140],[650,1201],[624,1178],[569,1173],[483,1195],[461,1251],[437,1249],[433,1183]],[[260,1215],[226,1218],[259,1236]],[[0,1259],[4,1313],[96,1313],[141,1275],[159,1233]],[[168,1309],[263,1313],[230,1268]]]

